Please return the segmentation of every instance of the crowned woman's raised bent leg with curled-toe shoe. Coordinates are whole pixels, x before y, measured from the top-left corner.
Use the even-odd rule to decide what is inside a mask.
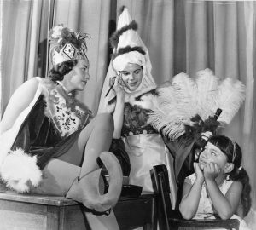
[[[110,114],[102,113],[96,116],[80,133],[78,140],[68,150],[62,160],[78,163],[81,158],[81,171],[73,181],[67,198],[73,198],[89,209],[104,212],[112,208],[118,201],[122,188],[122,170],[118,159],[108,152],[113,136],[113,118]],[[73,151],[78,151],[73,152]],[[73,157],[75,154],[75,157]],[[97,164],[101,158],[110,177],[108,193],[102,194],[99,189],[101,170]]]

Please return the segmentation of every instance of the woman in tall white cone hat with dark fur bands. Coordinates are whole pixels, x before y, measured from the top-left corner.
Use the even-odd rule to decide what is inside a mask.
[[[151,76],[148,49],[136,30],[137,24],[131,21],[128,9],[125,8],[112,37],[113,57],[102,89],[99,111],[113,114],[113,138],[124,141],[125,151],[129,155],[129,183],[142,186],[143,191],[152,192],[149,171],[156,164],[166,164],[174,204],[176,186],[172,158],[160,133],[148,124],[148,112],[154,106],[156,85]],[[113,76],[117,77],[111,78]],[[110,90],[109,80],[112,82],[110,85],[113,85]]]

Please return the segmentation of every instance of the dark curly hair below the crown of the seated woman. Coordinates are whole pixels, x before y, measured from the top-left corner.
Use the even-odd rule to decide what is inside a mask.
[[[78,60],[67,60],[52,67],[48,77],[53,81],[62,81],[64,76],[78,64]]]

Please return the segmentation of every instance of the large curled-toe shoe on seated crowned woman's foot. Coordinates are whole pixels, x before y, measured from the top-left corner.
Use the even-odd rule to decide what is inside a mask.
[[[77,177],[66,197],[83,203],[87,209],[96,214],[106,214],[118,202],[122,189],[123,174],[119,160],[112,152],[102,152],[100,155],[102,163],[109,174],[108,193],[101,194],[99,190],[99,179],[101,169],[90,172],[82,177]]]

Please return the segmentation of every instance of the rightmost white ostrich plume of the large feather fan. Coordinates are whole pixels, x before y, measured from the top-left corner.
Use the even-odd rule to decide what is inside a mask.
[[[218,107],[222,112],[219,122],[230,124],[231,119],[238,112],[241,103],[245,100],[245,85],[238,80],[225,78],[218,89]]]

